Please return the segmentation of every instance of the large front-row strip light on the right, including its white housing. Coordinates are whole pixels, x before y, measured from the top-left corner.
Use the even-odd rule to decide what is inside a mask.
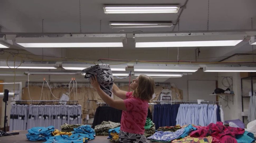
[[[235,46],[246,32],[195,32],[135,34],[135,47],[205,47]]]

